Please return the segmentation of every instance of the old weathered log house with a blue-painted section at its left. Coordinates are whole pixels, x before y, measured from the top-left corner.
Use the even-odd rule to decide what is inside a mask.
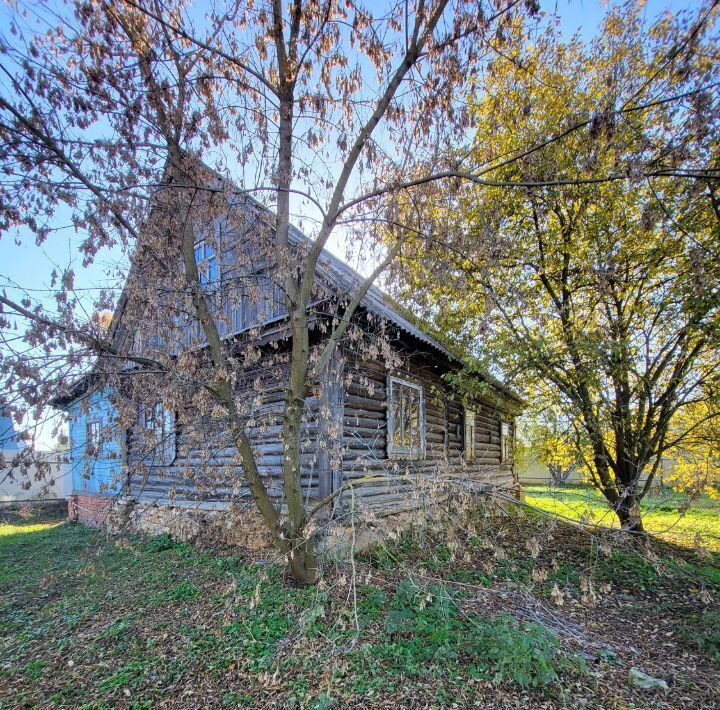
[[[272,223],[268,210],[250,198],[234,209]],[[291,237],[298,245],[307,243],[296,229]],[[196,259],[220,292],[246,241],[247,235],[235,234],[216,250],[198,243]],[[259,301],[241,293],[215,303],[223,338],[238,352],[252,346],[261,353],[236,373],[236,399],[247,401],[253,412],[247,431],[266,487],[281,507],[290,344],[284,294],[264,264],[253,274],[263,294]],[[361,279],[324,252],[316,281],[320,295],[315,305],[330,304],[325,312],[337,313]],[[132,337],[126,310],[123,296],[111,326],[118,343]],[[320,315],[312,321],[311,346],[327,337],[322,312],[317,308]],[[412,511],[427,508],[440,488],[442,495],[488,485],[511,488],[515,418],[522,400],[489,375],[478,375],[483,395],[463,404],[444,377],[461,367],[459,356],[412,323],[376,287],[363,298],[353,325],[355,337],[341,342],[306,401],[301,460],[308,505],[342,489],[328,507],[338,520],[397,514],[412,519]],[[185,337],[187,342],[195,338],[202,349],[197,326],[188,326]],[[76,519],[98,524],[122,501],[132,506],[139,527],[140,511],[153,521],[144,525],[152,532],[167,529],[189,537],[189,529],[199,534],[207,528],[198,516],[229,520],[228,511],[233,517],[226,529],[242,529],[243,520],[257,527],[242,466],[222,420],[183,419],[158,402],[140,406],[129,427],[112,426],[112,393],[92,375],[59,393],[55,404],[70,415],[70,509]],[[348,485],[352,481],[356,485]],[[187,522],[178,527],[175,521],[188,516],[194,516],[190,527]],[[249,535],[229,537],[251,542]]]

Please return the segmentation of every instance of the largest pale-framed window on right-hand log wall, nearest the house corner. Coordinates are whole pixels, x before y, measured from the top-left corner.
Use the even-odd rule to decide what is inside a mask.
[[[425,455],[425,400],[420,385],[388,378],[388,455],[417,459]]]

